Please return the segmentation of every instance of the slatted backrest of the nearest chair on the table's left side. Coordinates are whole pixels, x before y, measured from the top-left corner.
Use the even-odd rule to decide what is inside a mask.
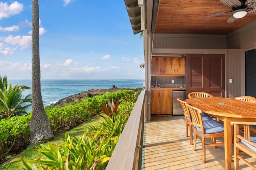
[[[191,106],[190,104],[186,103],[186,106],[188,107],[190,114],[192,115],[193,124],[194,126],[198,126],[201,129],[201,132],[204,133],[204,126],[203,126],[203,120],[202,120],[202,110]]]

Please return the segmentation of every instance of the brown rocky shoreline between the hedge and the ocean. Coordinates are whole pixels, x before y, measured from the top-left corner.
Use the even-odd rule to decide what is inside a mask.
[[[136,88],[109,88],[109,89],[97,89],[97,90],[88,90],[84,91],[78,94],[74,94],[72,96],[68,96],[64,99],[59,100],[55,104],[51,104],[53,106],[63,106],[64,104],[68,104],[70,102],[79,102],[81,100],[84,100],[86,96],[92,97],[96,96],[98,94],[105,94],[105,93],[110,93],[110,92],[118,92],[122,90],[134,90],[135,92],[142,90],[142,88],[136,87]]]

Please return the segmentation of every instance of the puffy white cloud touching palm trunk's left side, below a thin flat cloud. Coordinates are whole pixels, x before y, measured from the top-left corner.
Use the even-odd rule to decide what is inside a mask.
[[[8,37],[4,38],[4,42],[11,44],[11,45],[18,45],[20,46],[20,49],[26,49],[31,45],[31,36],[25,36],[22,37],[20,35],[16,37],[12,37],[12,35],[9,35]]]

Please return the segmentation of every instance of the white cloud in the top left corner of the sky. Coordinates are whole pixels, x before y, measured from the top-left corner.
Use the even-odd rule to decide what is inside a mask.
[[[0,20],[2,18],[9,18],[10,16],[19,14],[23,11],[23,8],[23,4],[20,4],[17,1],[12,2],[10,6],[8,6],[7,2],[0,2]]]

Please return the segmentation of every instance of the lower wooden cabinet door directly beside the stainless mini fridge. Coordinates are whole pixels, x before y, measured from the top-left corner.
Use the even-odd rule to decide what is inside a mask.
[[[161,91],[162,91],[161,114],[172,114],[172,90],[161,90]]]

